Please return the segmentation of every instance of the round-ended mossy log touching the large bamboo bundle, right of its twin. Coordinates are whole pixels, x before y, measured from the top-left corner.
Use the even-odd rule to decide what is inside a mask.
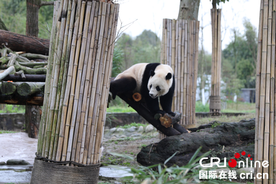
[[[45,82],[24,82],[17,86],[18,94],[22,96],[42,93],[44,91]]]

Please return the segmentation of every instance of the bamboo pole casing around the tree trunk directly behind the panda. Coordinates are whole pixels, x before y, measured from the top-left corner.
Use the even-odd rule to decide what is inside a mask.
[[[181,111],[180,124],[195,126],[199,21],[163,19],[161,63],[175,75],[172,111]],[[165,135],[160,134],[163,139]]]

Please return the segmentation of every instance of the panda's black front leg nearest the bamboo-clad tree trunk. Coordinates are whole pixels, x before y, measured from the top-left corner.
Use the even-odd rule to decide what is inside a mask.
[[[173,77],[173,84],[169,89],[169,92],[160,97],[160,104],[164,111],[166,111],[171,116],[175,116],[175,113],[172,112],[172,104],[174,99],[174,92],[175,92],[175,78]]]

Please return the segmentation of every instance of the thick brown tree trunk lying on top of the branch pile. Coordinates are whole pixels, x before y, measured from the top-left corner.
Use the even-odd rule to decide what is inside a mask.
[[[0,41],[13,51],[49,55],[50,41],[0,30]]]

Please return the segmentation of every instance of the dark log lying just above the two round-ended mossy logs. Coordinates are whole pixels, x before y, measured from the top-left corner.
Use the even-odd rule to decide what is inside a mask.
[[[2,79],[2,81],[13,81],[13,82],[45,82],[45,80],[46,80],[46,75],[31,75],[31,74],[26,74],[25,80],[22,78],[22,76],[19,76],[19,75],[16,76],[11,74],[7,75],[4,79]]]

